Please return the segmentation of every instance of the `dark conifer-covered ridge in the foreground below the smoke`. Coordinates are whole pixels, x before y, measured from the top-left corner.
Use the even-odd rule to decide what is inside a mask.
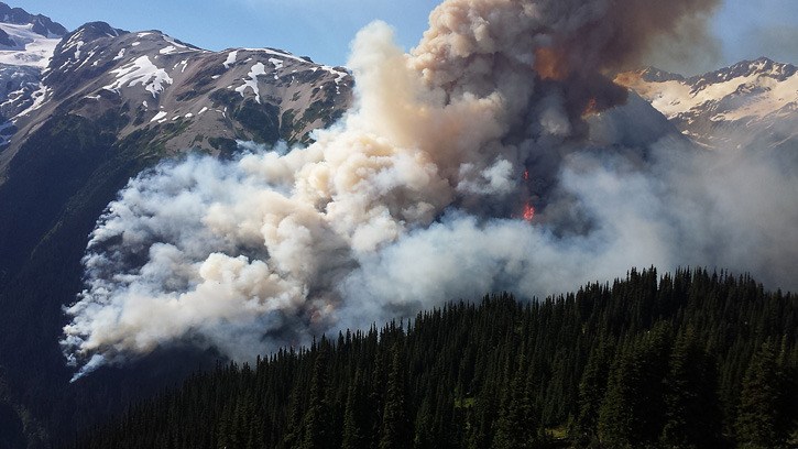
[[[798,297],[632,270],[220,363],[76,448],[795,447]]]

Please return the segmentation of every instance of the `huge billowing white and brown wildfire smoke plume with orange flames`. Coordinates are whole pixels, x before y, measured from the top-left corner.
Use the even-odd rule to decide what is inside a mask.
[[[633,265],[791,281],[795,175],[690,147],[603,75],[713,7],[449,0],[409,55],[368,26],[349,63],[357,105],[316,143],[166,162],[109,205],[66,309],[76,377],[176,342],[247,359]]]

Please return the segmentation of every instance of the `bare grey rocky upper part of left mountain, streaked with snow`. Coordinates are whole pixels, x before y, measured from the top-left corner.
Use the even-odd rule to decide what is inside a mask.
[[[0,81],[19,78],[0,92],[0,179],[31,135],[67,117],[108,121],[118,142],[145,132],[162,155],[229,152],[236,140],[307,142],[342,114],[353,86],[345,68],[287,52],[209,52],[103,22],[66,34],[48,61],[41,76],[36,67],[12,66],[8,75],[0,67]]]

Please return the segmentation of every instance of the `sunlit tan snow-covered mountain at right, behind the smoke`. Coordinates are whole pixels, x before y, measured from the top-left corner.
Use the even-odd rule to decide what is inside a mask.
[[[690,78],[648,67],[615,81],[710,147],[798,142],[798,68],[790,64],[763,57]]]

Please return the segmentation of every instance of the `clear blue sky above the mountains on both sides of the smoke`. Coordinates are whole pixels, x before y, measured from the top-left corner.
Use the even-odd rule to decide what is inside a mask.
[[[653,0],[667,1],[667,0]],[[271,46],[342,65],[359,29],[381,19],[409,50],[437,0],[20,0],[69,30],[101,20],[130,31],[161,30],[207,50]],[[769,56],[798,63],[798,0],[724,0],[712,21],[718,64]],[[662,67],[668,69],[669,67]]]

